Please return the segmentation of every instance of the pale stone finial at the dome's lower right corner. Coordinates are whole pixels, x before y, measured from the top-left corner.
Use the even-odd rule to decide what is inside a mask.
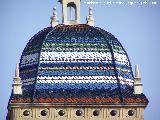
[[[135,65],[135,75],[134,75],[134,94],[141,94],[142,93],[142,86],[140,73],[138,65]]]

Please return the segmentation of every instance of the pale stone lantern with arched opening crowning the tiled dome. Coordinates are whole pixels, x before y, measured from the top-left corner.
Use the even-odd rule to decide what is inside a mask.
[[[62,23],[66,25],[80,24],[81,0],[59,0],[62,4]]]

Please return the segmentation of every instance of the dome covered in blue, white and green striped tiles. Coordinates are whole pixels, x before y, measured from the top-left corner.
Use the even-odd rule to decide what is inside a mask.
[[[20,59],[23,94],[11,102],[147,102],[134,95],[128,55],[111,33],[86,24],[57,25],[34,35]]]

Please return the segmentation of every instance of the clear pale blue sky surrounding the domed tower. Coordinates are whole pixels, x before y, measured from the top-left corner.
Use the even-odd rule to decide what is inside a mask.
[[[1,120],[5,120],[15,66],[19,63],[25,45],[34,34],[50,26],[50,16],[54,6],[57,7],[61,21],[61,5],[57,1],[0,0]],[[81,21],[85,23],[89,5],[83,2],[89,0],[81,1]],[[149,99],[145,120],[160,120],[160,94],[158,93],[160,90],[160,2],[157,5],[91,6],[93,6],[95,25],[111,32],[119,39],[129,55],[132,66],[139,64],[144,93]]]

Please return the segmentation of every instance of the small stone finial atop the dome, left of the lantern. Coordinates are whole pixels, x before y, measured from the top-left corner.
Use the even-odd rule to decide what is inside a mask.
[[[58,18],[57,18],[57,10],[56,7],[53,8],[53,16],[51,17],[51,26],[55,27],[56,25],[58,25]]]

